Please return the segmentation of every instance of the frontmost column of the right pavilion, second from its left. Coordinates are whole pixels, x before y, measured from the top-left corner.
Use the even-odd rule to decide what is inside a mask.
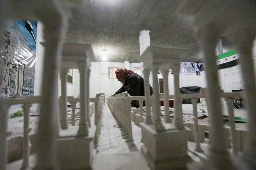
[[[152,68],[152,76],[153,76],[153,97],[154,97],[154,126],[157,132],[164,130],[164,126],[161,122],[161,112],[160,112],[160,97],[159,97],[159,84],[158,84],[158,70],[159,65],[154,65]]]

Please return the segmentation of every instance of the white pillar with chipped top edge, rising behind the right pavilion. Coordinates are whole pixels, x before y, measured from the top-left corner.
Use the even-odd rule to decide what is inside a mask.
[[[150,30],[142,30],[140,31],[139,40],[140,40],[140,55],[150,46],[150,37],[149,37]],[[141,77],[143,75],[143,62],[140,62],[141,65]]]

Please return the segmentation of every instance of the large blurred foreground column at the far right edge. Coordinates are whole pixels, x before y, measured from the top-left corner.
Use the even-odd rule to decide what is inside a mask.
[[[247,31],[247,30],[246,30]],[[252,47],[255,39],[255,34],[252,31],[241,30],[234,37],[237,41],[235,45],[239,51],[241,59],[239,60],[242,78],[244,82],[244,100],[246,104],[246,111],[248,114],[248,137],[244,148],[244,159],[247,160],[251,167],[256,165],[256,107],[255,107],[255,96],[256,96],[256,85],[255,85],[255,73],[254,73],[254,62],[252,57]],[[246,34],[241,33],[246,32]]]

